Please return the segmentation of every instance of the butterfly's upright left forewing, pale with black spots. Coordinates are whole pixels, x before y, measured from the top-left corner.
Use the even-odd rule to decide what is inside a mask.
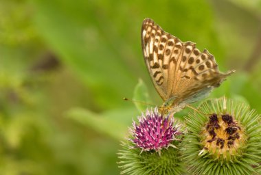
[[[168,42],[168,43],[167,43]],[[174,47],[181,49],[179,39],[166,33],[149,18],[144,20],[141,28],[141,44],[144,59],[153,84],[161,98],[167,100],[170,97],[170,84],[174,79],[174,69],[177,63],[172,59]],[[170,57],[172,55],[172,57]]]

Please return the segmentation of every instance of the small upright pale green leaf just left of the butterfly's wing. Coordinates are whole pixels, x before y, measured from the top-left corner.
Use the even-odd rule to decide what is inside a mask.
[[[135,86],[133,100],[137,101],[135,106],[139,111],[145,111],[148,108],[148,104],[146,103],[151,103],[148,88],[142,79],[139,79],[139,83]]]

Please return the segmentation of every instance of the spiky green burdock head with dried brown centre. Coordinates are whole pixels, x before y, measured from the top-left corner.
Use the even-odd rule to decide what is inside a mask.
[[[258,174],[260,115],[225,98],[209,100],[186,118],[183,160],[190,174]]]

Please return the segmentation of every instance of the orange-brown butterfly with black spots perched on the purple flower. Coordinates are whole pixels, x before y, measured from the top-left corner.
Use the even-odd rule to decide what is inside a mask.
[[[181,42],[163,31],[152,19],[144,19],[141,45],[150,77],[164,100],[161,113],[176,113],[190,103],[205,98],[235,70],[218,70],[215,58],[196,43]]]

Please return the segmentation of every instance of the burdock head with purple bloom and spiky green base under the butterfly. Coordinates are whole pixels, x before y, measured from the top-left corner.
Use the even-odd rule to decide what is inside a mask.
[[[161,116],[157,107],[133,122],[131,134],[120,150],[122,174],[181,174],[180,127],[174,118]],[[166,149],[163,149],[166,148]]]

